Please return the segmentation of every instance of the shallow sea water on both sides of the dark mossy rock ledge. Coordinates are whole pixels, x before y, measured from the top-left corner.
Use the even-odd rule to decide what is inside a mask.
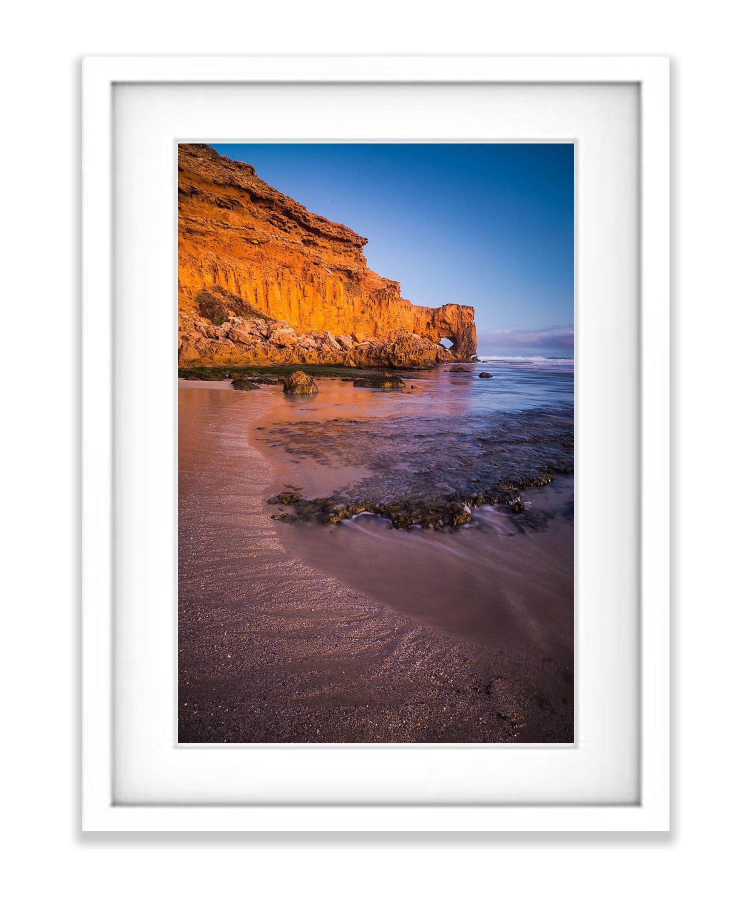
[[[276,465],[276,488],[309,499],[431,500],[555,473],[521,491],[523,512],[482,506],[468,524],[437,531],[363,514],[279,523],[279,537],[323,574],[429,626],[572,664],[573,361],[451,368],[403,374],[399,391],[335,378],[303,397],[266,388],[273,401],[249,437]]]

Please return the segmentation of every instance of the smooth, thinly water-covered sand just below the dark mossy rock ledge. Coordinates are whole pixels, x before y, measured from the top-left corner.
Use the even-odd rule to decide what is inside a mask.
[[[565,665],[573,648],[570,492],[567,484],[524,492],[553,517],[543,536],[520,533],[502,507],[475,509],[470,525],[444,531],[399,530],[364,514],[334,526],[296,523],[279,536],[296,558],[424,625]]]

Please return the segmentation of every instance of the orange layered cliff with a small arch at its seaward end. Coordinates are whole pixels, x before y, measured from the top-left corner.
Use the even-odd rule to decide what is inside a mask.
[[[253,166],[181,144],[178,195],[180,365],[422,368],[476,353],[471,307],[405,300],[367,267],[366,238]]]

